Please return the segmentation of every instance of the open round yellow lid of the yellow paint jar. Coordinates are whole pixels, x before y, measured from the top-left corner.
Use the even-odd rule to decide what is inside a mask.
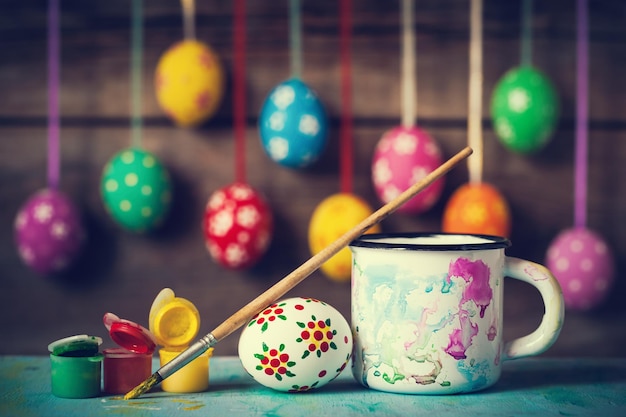
[[[164,288],[150,309],[150,331],[165,347],[188,346],[200,330],[200,313],[193,303],[176,297],[174,291]]]

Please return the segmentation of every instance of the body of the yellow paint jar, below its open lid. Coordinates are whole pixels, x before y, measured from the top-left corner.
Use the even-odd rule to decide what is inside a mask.
[[[159,350],[161,366],[165,365],[184,348],[163,348]],[[201,392],[209,387],[209,361],[213,355],[213,348],[207,350],[187,365],[165,378],[161,389],[167,392]]]

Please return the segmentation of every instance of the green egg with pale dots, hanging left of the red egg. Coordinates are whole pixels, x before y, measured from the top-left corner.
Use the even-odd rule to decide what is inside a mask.
[[[172,186],[159,160],[141,149],[125,149],[104,167],[104,206],[123,228],[143,233],[157,228],[169,211]]]

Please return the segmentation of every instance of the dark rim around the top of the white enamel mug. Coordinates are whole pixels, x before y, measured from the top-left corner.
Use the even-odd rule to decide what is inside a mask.
[[[423,237],[437,236],[468,236],[480,239],[486,239],[488,242],[474,243],[443,243],[443,244],[426,244],[426,243],[390,243],[381,242],[383,239],[400,238],[415,239]],[[404,232],[404,233],[371,233],[364,234],[349,243],[350,247],[370,248],[370,249],[389,249],[389,250],[420,250],[432,252],[445,251],[466,251],[466,250],[488,250],[503,249],[511,246],[511,241],[502,236],[486,235],[478,233],[446,233],[446,232]]]

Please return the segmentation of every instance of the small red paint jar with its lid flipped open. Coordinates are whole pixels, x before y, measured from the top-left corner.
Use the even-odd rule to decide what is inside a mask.
[[[126,394],[152,374],[154,336],[139,324],[112,313],[105,314],[103,321],[111,339],[121,346],[103,351],[103,391]]]

